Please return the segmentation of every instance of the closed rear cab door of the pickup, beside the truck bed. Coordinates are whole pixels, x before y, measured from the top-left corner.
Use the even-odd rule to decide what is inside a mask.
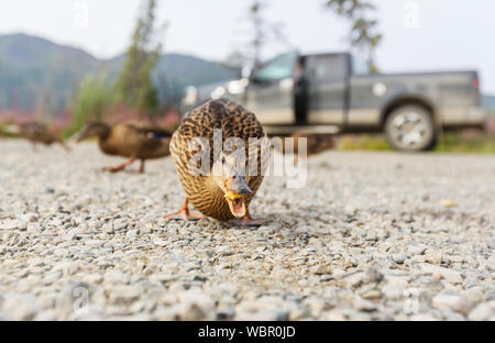
[[[348,103],[350,73],[346,54],[306,57],[309,79],[308,124],[343,124]]]

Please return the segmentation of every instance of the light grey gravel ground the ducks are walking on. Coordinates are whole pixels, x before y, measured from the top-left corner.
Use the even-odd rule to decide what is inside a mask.
[[[493,155],[327,152],[304,188],[264,180],[257,229],[163,219],[170,158],[0,156],[0,319],[495,319]]]

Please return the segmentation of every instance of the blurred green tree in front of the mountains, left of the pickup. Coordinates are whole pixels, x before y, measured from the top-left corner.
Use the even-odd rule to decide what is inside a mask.
[[[116,85],[120,102],[150,115],[155,114],[158,108],[152,71],[162,51],[162,44],[155,41],[155,10],[156,1],[148,0],[138,20],[132,44],[127,52],[125,63]]]

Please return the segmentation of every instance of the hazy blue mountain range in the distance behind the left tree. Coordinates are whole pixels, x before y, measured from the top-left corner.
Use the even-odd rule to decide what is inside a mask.
[[[124,56],[98,59],[82,49],[26,34],[0,35],[0,109],[61,112],[88,74],[116,76]],[[162,101],[177,99],[187,85],[235,78],[237,70],[201,58],[165,54],[153,71]]]

